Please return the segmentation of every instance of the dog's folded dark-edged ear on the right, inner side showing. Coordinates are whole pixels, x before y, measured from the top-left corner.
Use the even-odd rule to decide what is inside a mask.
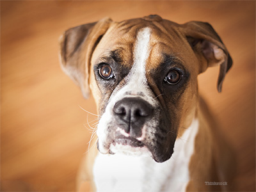
[[[220,65],[218,77],[218,92],[221,92],[225,74],[232,66],[232,58],[220,36],[207,22],[191,21],[182,25],[182,29],[188,38],[189,44],[199,54],[201,71],[207,67]]]

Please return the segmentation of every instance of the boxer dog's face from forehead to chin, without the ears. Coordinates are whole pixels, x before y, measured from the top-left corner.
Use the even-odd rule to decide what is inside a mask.
[[[179,127],[183,131],[195,114],[199,68],[188,41],[172,29],[168,34],[127,22],[109,29],[97,45],[90,84],[101,116],[100,152],[148,151],[159,162],[172,155]]]

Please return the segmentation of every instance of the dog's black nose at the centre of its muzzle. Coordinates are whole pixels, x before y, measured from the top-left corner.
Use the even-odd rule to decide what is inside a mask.
[[[140,97],[127,97],[116,102],[113,112],[118,127],[138,138],[143,124],[152,116],[153,107]]]

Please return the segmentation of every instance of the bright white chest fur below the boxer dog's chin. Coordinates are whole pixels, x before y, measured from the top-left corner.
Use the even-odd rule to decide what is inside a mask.
[[[98,154],[93,168],[97,191],[185,191],[197,131],[198,120],[193,120],[164,163],[152,157]]]

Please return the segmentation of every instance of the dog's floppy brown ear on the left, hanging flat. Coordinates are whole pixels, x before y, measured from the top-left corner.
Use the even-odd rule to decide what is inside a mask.
[[[60,37],[61,67],[80,86],[83,96],[88,98],[90,61],[100,39],[108,30],[112,20],[84,24],[68,29]]]

